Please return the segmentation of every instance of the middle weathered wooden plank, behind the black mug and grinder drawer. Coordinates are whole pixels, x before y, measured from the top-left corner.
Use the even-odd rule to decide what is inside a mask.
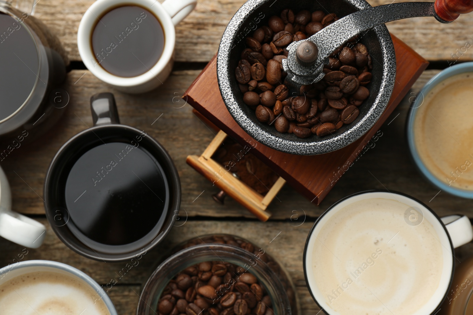
[[[84,72],[86,74],[74,85]],[[131,96],[101,83],[88,71],[72,71],[68,82],[63,86],[70,95],[70,104],[67,105],[68,110],[61,122],[35,143],[22,144],[0,162],[11,185],[13,209],[22,213],[44,213],[41,199],[43,180],[51,159],[71,136],[86,129],[86,124],[92,125],[90,96],[98,92],[111,91],[115,94],[121,121],[145,130],[155,137],[174,159],[181,177],[183,192],[181,209],[185,210],[183,215],[187,213],[190,217],[199,215],[254,218],[253,214],[231,198],[227,198],[224,205],[217,204],[212,195],[219,189],[212,187],[212,183],[185,163],[187,155],[200,155],[217,134],[201,122],[192,113],[192,107],[184,105],[184,101],[180,98],[199,72],[174,72],[162,88],[147,94]],[[386,123],[380,129],[383,136],[365,148],[362,156],[343,175],[319,207],[310,204],[289,185],[284,185],[268,207],[268,211],[272,213],[271,219],[290,219],[294,214],[293,210],[299,215],[306,213],[307,216],[317,217],[338,199],[373,188],[387,188],[411,194],[429,204],[439,215],[463,213],[473,218],[470,200],[450,196],[444,192],[436,196],[438,189],[428,184],[412,164],[405,141],[404,122],[409,102],[437,73],[438,70],[428,70],[422,74],[414,84],[412,92],[407,94],[394,113],[386,119]],[[193,202],[199,194],[201,196]],[[431,200],[434,196],[435,198]]]

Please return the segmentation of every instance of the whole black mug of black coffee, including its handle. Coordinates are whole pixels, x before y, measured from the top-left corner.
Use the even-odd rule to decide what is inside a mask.
[[[113,94],[91,98],[94,127],[67,141],[44,180],[56,235],[81,255],[128,260],[157,246],[178,217],[174,163],[145,131],[119,122]]]

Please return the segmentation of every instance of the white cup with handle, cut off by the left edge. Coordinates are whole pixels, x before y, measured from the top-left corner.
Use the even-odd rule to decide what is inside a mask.
[[[43,224],[11,210],[10,185],[0,168],[0,236],[21,246],[38,248],[45,234]]]

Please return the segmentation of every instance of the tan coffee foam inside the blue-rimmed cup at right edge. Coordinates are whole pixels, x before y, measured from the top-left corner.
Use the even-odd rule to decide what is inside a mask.
[[[446,79],[417,110],[414,141],[420,159],[450,186],[473,190],[473,72]]]

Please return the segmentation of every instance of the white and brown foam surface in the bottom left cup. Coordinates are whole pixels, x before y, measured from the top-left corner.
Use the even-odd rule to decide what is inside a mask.
[[[1,315],[110,315],[86,283],[56,272],[26,273],[0,285]]]

